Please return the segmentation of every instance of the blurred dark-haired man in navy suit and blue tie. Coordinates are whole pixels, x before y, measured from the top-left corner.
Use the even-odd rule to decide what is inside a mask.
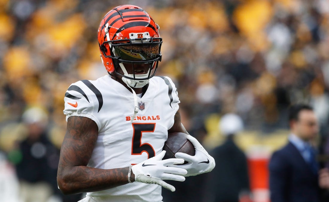
[[[269,162],[271,202],[318,202],[318,164],[312,141],[318,133],[313,108],[291,106],[288,144],[275,151]]]

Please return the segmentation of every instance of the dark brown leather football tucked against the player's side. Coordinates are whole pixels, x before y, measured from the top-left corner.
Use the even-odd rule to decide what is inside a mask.
[[[175,158],[176,152],[183,152],[191,156],[195,155],[195,148],[193,144],[187,139],[188,134],[186,133],[169,133],[167,141],[164,143],[163,150],[165,155],[163,159]],[[185,161],[183,164],[186,164]]]

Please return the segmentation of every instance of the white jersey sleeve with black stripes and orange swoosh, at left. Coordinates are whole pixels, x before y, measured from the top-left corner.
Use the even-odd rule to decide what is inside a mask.
[[[71,116],[87,117],[100,128],[99,121],[94,116],[95,105],[92,97],[89,96],[88,89],[84,88],[79,81],[69,86],[65,92],[64,102],[63,113],[66,115],[66,121]]]

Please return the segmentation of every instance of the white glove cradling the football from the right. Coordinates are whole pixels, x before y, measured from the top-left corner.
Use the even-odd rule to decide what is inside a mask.
[[[212,171],[215,168],[214,158],[208,154],[206,149],[204,149],[203,146],[199,143],[199,141],[193,136],[188,135],[187,139],[189,139],[190,142],[193,144],[195,148],[195,155],[191,156],[186,153],[177,152],[175,154],[175,157],[184,159],[188,163],[184,165],[171,165],[171,167],[186,169],[187,174],[183,175],[185,177]]]

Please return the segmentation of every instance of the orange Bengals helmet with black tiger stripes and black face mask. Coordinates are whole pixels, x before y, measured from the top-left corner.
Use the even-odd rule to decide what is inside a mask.
[[[115,71],[132,87],[144,86],[155,75],[162,58],[162,38],[159,25],[140,7],[113,8],[102,19],[97,37],[102,62],[110,74]],[[134,64],[149,64],[149,69],[144,74],[135,74]],[[125,65],[132,66],[133,71],[128,73]]]

